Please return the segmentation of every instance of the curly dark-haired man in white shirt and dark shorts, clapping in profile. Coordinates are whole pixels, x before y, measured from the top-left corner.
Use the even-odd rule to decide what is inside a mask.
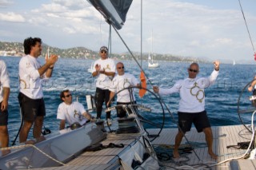
[[[46,58],[46,63],[41,65],[38,57],[42,52],[41,38],[26,38],[24,40],[26,56],[19,61],[19,103],[22,109],[23,125],[19,133],[19,142],[25,142],[34,124],[33,136],[41,136],[44,116],[46,116],[45,102],[43,100],[42,82],[48,80],[58,61],[57,55]]]

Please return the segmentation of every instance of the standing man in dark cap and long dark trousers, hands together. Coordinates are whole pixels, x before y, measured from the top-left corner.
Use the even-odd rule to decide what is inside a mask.
[[[105,101],[105,105],[110,100],[110,90],[111,80],[115,74],[114,60],[108,57],[108,49],[106,46],[102,46],[99,49],[100,59],[94,62],[94,70],[92,73],[93,77],[97,77],[96,81],[96,119],[101,119],[102,116],[102,105]],[[106,120],[109,125],[111,125],[110,112],[106,113]]]

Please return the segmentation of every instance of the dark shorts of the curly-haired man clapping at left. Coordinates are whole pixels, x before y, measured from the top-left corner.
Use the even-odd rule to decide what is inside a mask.
[[[42,99],[30,99],[19,93],[18,100],[22,108],[22,116],[25,121],[34,121],[36,117],[46,116],[45,101]]]

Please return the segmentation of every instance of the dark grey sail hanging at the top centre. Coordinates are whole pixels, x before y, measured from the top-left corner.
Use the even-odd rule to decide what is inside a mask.
[[[126,22],[126,14],[133,0],[87,0],[98,10],[106,22],[116,29],[122,29]]]

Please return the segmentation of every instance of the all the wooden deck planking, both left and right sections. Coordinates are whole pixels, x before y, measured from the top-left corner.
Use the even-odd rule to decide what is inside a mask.
[[[223,160],[227,160],[230,158],[235,158],[242,156],[246,150],[245,149],[237,149],[237,148],[226,148],[229,145],[237,145],[238,142],[246,142],[250,141],[251,133],[247,132],[246,128],[243,125],[232,125],[232,126],[218,126],[212,127],[214,134],[214,152],[219,156],[218,160],[212,159],[207,153],[206,141],[204,133],[198,133],[196,129],[192,129],[190,132],[186,133],[187,139],[190,143],[194,144],[194,152],[198,155],[195,155],[194,152],[186,154],[185,157],[181,157],[179,159],[175,159],[173,163],[166,164],[167,166],[178,167],[182,166],[180,164],[181,160],[187,160],[184,164],[208,164],[213,165],[217,164]],[[148,130],[150,133],[158,132],[158,129],[150,129]],[[176,128],[165,128],[162,130],[160,136],[152,142],[152,144],[160,145],[162,148],[173,148],[174,146],[174,138],[176,136],[177,129]],[[126,149],[129,148],[129,144],[134,141],[136,136],[128,137],[126,135],[108,135],[107,139],[102,141],[102,144],[106,145],[109,143],[114,144],[125,144]],[[181,147],[187,145],[186,140],[183,138]],[[200,145],[198,145],[200,144]],[[197,147],[198,146],[198,147]],[[48,170],[65,170],[65,169],[108,169],[110,167],[118,166],[118,152],[122,152],[123,148],[106,148],[97,152],[83,152],[80,156],[74,156],[74,160],[71,160],[66,166],[62,167],[53,167],[53,168],[40,168],[40,169],[48,169]],[[168,154],[172,155],[171,152]],[[182,155],[181,155],[182,156]],[[113,159],[116,158],[116,159]],[[111,160],[111,161],[110,161]],[[246,167],[242,166],[246,164]],[[244,160],[239,159],[236,162],[235,167],[244,170],[255,169],[256,161],[255,160]],[[220,170],[228,170],[230,169],[230,161],[227,161],[223,164],[218,164],[213,166],[212,169],[220,169]],[[234,168],[235,169],[235,168]]]

